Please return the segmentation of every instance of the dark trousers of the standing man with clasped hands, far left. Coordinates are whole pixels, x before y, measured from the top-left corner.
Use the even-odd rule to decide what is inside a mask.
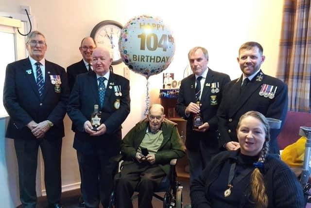
[[[40,146],[44,161],[44,182],[50,204],[60,201],[61,187],[61,150],[62,138],[55,140],[14,140],[18,163],[20,201],[24,208],[35,208],[35,176],[38,149]]]

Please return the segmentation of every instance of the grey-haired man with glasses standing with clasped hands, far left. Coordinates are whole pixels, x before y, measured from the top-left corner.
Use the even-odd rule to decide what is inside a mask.
[[[14,139],[20,201],[35,208],[38,147],[44,160],[49,208],[61,208],[61,147],[63,118],[69,97],[64,68],[47,61],[47,42],[33,31],[26,43],[29,57],[7,65],[3,104],[10,115],[6,137]]]

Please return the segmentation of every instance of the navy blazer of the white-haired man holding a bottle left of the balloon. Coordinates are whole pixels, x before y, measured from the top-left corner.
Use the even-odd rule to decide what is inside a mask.
[[[121,86],[121,96],[116,96],[113,86]],[[78,75],[73,86],[67,113],[76,127],[73,148],[85,154],[94,153],[97,148],[106,149],[109,155],[120,152],[121,124],[130,113],[130,85],[129,80],[110,73],[104,96],[102,122],[106,126],[106,133],[100,136],[90,136],[84,130],[84,123],[90,120],[94,112],[94,105],[99,104],[98,83],[95,72]],[[116,109],[116,102],[120,100],[120,108]]]

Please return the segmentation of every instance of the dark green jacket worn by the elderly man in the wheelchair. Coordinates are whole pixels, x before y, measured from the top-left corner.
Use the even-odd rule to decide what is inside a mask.
[[[143,140],[149,121],[144,119],[136,124],[123,138],[121,152],[125,156],[125,161],[122,165],[134,163],[136,160],[137,149]],[[185,148],[180,139],[177,124],[168,119],[164,119],[162,123],[163,142],[160,149],[155,154],[155,163],[169,175],[170,160],[181,158],[185,155]]]

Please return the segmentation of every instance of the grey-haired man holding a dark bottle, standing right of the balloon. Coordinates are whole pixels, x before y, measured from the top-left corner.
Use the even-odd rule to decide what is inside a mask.
[[[224,86],[230,81],[226,74],[207,67],[208,53],[203,47],[194,47],[188,54],[192,75],[181,81],[176,111],[187,120],[186,147],[190,164],[190,181],[199,175],[213,155],[219,152],[217,140],[217,109],[222,101]],[[200,83],[200,103],[196,105],[195,88]],[[203,125],[192,130],[193,114],[201,113]]]

